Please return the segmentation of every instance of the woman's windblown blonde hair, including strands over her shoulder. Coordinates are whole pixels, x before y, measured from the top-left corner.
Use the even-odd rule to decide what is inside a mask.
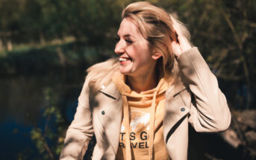
[[[170,85],[178,81],[180,79],[178,63],[171,48],[171,42],[177,41],[177,34],[173,25],[177,26],[181,34],[190,42],[190,33],[187,28],[175,19],[172,14],[147,1],[134,2],[125,7],[122,11],[122,19],[125,18],[132,19],[137,28],[139,28],[140,33],[149,41],[150,47],[162,55],[157,60],[157,70],[160,71],[160,76],[165,77]],[[97,70],[97,65],[93,65],[87,70],[92,83],[97,84],[96,89],[99,89],[99,85],[107,85],[111,78],[105,77],[110,77],[111,74],[118,71],[118,61],[110,60],[108,63],[111,63],[109,66],[113,68],[107,67],[102,71],[102,67]],[[104,75],[102,72],[105,72]]]

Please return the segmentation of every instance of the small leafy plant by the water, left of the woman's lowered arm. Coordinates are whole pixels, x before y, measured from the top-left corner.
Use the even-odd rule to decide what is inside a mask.
[[[31,129],[31,139],[36,144],[37,150],[43,159],[57,159],[64,142],[64,119],[60,114],[60,107],[56,106],[56,95],[54,95],[52,89],[46,88],[44,93],[46,101],[49,102],[49,107],[43,112],[43,116],[46,117],[46,123],[43,130],[36,126]],[[51,127],[49,127],[50,125]]]

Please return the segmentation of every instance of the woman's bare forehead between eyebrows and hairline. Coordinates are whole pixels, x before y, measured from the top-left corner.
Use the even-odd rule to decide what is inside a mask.
[[[126,34],[130,34],[131,36],[142,36],[137,26],[134,25],[133,20],[129,18],[122,19],[117,34],[121,36]]]

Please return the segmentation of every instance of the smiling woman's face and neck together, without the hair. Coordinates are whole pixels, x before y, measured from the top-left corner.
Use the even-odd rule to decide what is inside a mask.
[[[128,75],[128,78],[134,77],[134,80],[137,80],[134,83],[137,87],[131,86],[132,89],[138,89],[138,86],[141,86],[138,92],[152,89],[156,85],[155,65],[161,54],[150,48],[149,42],[134,25],[132,19],[122,20],[117,36],[119,41],[116,43],[115,52],[119,56],[119,71]],[[143,85],[140,85],[141,83]]]

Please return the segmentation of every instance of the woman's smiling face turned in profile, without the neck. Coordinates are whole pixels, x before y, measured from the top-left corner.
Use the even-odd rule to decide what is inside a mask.
[[[130,76],[141,76],[154,69],[149,42],[143,37],[133,20],[122,20],[117,33],[115,52],[119,56],[119,71]]]

